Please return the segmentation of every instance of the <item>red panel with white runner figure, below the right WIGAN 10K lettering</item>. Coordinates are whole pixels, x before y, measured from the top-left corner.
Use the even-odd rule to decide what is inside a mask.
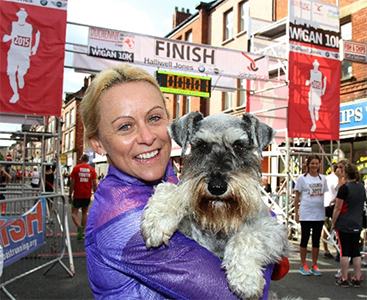
[[[340,61],[289,53],[288,136],[339,140]]]

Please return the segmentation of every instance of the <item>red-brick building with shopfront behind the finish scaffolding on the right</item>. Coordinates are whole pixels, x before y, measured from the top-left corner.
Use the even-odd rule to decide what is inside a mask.
[[[323,2],[337,4],[336,0]],[[339,0],[338,4],[341,39],[367,44],[367,2]],[[173,24],[177,26],[166,37],[287,59],[287,0],[218,0],[201,2],[196,10],[187,15],[184,9],[176,9]],[[187,18],[182,21],[184,17]],[[284,74],[281,68],[278,70]],[[340,148],[366,179],[367,165],[363,162],[367,161],[367,65],[342,61],[341,70]],[[236,87],[230,91],[214,90],[210,99],[168,95],[167,103],[174,118],[194,110],[204,115],[220,111],[239,115],[245,111],[246,93],[241,90],[241,80],[237,80]],[[321,144],[326,153],[338,146],[337,142],[330,145],[330,141]]]

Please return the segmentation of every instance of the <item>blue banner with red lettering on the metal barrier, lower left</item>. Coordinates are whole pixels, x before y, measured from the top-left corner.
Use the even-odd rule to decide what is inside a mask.
[[[0,217],[4,267],[32,253],[45,242],[46,198],[20,217]]]

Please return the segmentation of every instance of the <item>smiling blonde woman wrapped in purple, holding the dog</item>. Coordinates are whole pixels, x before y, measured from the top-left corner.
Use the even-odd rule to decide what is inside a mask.
[[[181,233],[147,250],[141,215],[154,186],[177,183],[169,163],[169,116],[146,71],[119,65],[102,71],[82,101],[85,139],[106,155],[108,174],[88,216],[85,249],[95,298],[236,299],[221,262]],[[272,266],[264,271],[267,298]]]

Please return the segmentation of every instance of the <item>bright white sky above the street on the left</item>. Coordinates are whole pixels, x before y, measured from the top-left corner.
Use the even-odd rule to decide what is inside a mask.
[[[199,3],[200,0],[68,0],[67,21],[163,37],[172,30],[176,6],[194,14]],[[87,38],[88,27],[67,25],[67,43],[87,45]],[[72,54],[66,52],[65,65],[71,65],[71,62]],[[83,86],[85,76],[88,74],[64,68],[64,92],[77,92]],[[0,127],[1,131],[17,131],[21,125],[0,122]],[[0,140],[0,146],[12,143]]]

